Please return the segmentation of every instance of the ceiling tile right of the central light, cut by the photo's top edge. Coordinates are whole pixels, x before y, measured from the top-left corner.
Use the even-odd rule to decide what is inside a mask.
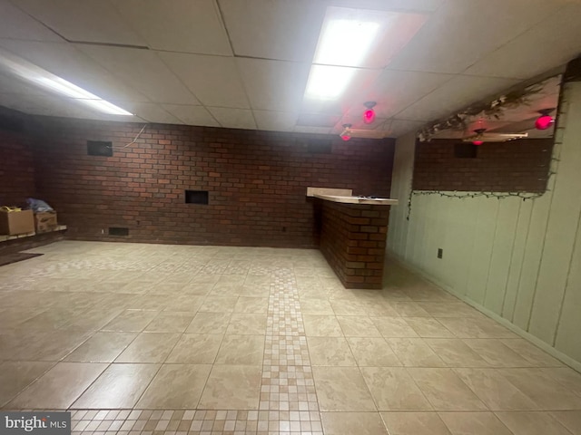
[[[555,7],[558,6],[554,2],[546,0],[450,0],[432,15],[389,67],[462,73],[487,53],[542,21]]]

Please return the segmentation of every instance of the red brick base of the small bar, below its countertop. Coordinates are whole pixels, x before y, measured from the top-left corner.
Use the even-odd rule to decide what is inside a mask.
[[[389,206],[317,200],[320,251],[345,288],[380,289]]]

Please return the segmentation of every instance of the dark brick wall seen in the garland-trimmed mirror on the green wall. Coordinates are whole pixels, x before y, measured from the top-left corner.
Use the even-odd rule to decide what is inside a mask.
[[[486,142],[476,159],[454,157],[458,140],[418,142],[413,189],[544,192],[553,139]]]

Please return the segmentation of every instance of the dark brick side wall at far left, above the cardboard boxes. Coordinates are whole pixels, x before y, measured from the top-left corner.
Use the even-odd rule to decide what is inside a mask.
[[[25,134],[0,130],[0,206],[22,206],[34,197],[33,150]]]

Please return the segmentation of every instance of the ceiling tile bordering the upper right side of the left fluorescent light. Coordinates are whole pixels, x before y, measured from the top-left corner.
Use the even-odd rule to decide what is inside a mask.
[[[71,44],[0,39],[0,46],[105,100],[148,101]]]

